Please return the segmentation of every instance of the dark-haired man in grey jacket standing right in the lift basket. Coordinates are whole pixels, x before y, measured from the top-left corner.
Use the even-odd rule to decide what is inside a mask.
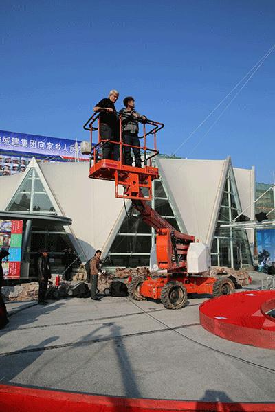
[[[132,96],[127,96],[123,100],[125,108],[120,110],[120,113],[127,115],[122,117],[122,137],[125,144],[132,147],[133,155],[135,157],[135,167],[142,167],[142,159],[140,157],[140,139],[138,138],[138,120],[146,122],[146,116],[140,115],[135,111],[135,99]],[[131,166],[133,158],[131,157],[131,147],[124,146],[124,163]]]

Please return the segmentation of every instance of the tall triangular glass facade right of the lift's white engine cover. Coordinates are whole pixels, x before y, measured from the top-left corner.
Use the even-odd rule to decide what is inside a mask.
[[[239,205],[236,185],[232,170],[230,170],[226,179],[212,242],[212,266],[228,266],[239,269],[252,264],[250,244],[245,229],[236,230],[229,227],[221,227],[221,225],[232,222],[240,212],[241,205]]]

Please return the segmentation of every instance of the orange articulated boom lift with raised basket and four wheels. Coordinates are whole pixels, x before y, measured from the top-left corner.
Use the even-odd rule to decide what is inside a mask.
[[[156,133],[164,124],[147,120],[146,124],[153,126],[146,132],[143,124],[144,146],[141,146],[144,157],[144,167],[135,168],[124,165],[123,147],[129,146],[122,141],[122,117],[117,114],[120,123],[119,141],[111,141],[120,145],[120,161],[102,159],[102,145],[107,140],[100,137],[100,115],[93,115],[83,126],[90,131],[91,142],[83,142],[81,150],[90,155],[89,177],[115,181],[115,197],[131,199],[133,206],[140,212],[147,225],[156,232],[156,255],[160,275],[133,277],[129,279],[129,294],[135,300],[144,300],[146,297],[161,299],[168,309],[183,308],[188,293],[210,293],[215,296],[227,295],[234,290],[234,284],[228,278],[215,279],[208,275],[210,268],[210,251],[195,237],[177,231],[170,223],[152,209],[146,201],[152,198],[152,181],[159,178],[158,169],[152,164],[152,158],[159,152],[156,147]],[[94,124],[98,121],[98,127]],[[98,132],[98,141],[93,144],[93,132]],[[154,148],[146,147],[146,138],[153,135]],[[135,147],[135,146],[131,146]],[[203,274],[204,273],[204,274]]]

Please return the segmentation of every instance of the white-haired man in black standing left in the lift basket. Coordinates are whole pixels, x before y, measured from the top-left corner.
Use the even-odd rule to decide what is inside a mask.
[[[109,97],[100,100],[94,107],[96,113],[100,112],[100,139],[120,141],[119,123],[116,116],[115,102],[118,100],[117,90],[112,89],[109,93]],[[119,144],[105,141],[102,147],[103,159],[113,160],[120,159],[120,146]]]

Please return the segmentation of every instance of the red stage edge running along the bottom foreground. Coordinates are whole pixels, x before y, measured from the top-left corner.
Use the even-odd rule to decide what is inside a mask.
[[[115,398],[0,385],[1,412],[275,412],[274,403]]]

